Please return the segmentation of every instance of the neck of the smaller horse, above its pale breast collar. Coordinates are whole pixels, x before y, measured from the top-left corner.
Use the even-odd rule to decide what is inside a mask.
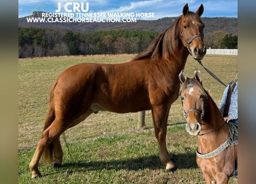
[[[205,91],[207,93],[207,91]],[[219,147],[230,136],[227,124],[221,116],[219,108],[207,93],[207,105],[205,115],[202,118],[201,136],[198,137],[198,151],[202,153],[211,152]],[[208,133],[209,132],[209,133]],[[211,144],[209,144],[211,142]]]

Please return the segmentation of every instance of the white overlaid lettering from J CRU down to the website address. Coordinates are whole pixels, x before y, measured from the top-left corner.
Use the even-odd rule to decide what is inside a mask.
[[[38,5],[32,10],[32,16],[26,17],[27,22],[67,23],[67,22],[137,22],[138,18],[154,18],[154,12],[88,12],[89,3],[67,2],[58,3],[55,13],[38,11],[44,10],[44,5]],[[63,7],[63,8],[62,8]],[[62,10],[64,9],[64,12]],[[45,10],[44,10],[45,11]],[[34,16],[36,14],[36,16]]]

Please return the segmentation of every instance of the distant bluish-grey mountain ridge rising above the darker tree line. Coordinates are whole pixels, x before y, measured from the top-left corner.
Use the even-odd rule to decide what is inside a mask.
[[[26,17],[18,18],[19,27],[35,26],[38,28],[68,29],[74,32],[93,32],[96,30],[147,30],[163,32],[177,17],[165,17],[158,20],[137,20],[133,23],[28,23]],[[238,34],[238,18],[202,17],[205,24],[204,33],[209,34],[221,30],[230,34]]]

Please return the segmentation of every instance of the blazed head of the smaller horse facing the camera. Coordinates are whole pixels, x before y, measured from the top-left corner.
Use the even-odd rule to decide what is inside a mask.
[[[184,116],[187,121],[186,131],[190,135],[198,135],[207,104],[207,94],[202,87],[201,73],[196,70],[194,78],[188,78],[181,71],[179,81],[181,81],[179,96],[182,100]]]

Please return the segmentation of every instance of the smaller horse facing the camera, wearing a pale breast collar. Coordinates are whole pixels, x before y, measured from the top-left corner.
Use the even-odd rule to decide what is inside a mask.
[[[187,78],[182,71],[179,79],[186,131],[198,137],[196,161],[204,179],[207,183],[228,183],[238,164],[237,141],[230,125],[202,87],[200,71],[194,72],[194,78]]]

